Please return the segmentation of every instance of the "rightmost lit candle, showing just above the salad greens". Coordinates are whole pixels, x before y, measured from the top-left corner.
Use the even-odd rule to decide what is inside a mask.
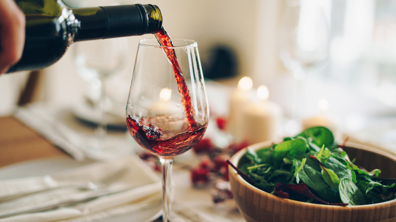
[[[303,129],[308,129],[314,126],[324,126],[334,130],[333,123],[327,119],[326,113],[328,110],[328,101],[326,99],[320,99],[318,102],[319,115],[304,119],[302,121]]]

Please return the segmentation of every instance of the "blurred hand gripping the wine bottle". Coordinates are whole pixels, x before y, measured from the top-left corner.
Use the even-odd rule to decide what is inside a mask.
[[[0,75],[19,61],[25,41],[25,16],[13,0],[0,1]]]

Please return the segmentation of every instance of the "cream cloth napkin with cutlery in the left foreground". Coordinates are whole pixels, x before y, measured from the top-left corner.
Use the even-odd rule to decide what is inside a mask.
[[[59,173],[0,180],[0,199],[8,195],[40,191],[87,181],[97,181],[126,168],[125,174],[101,191],[82,191],[76,188],[59,188],[0,203],[0,214],[18,212],[39,206],[48,206],[67,200],[83,200],[95,192],[117,192],[112,195],[55,210],[22,214],[0,219],[1,222],[19,221],[92,221],[109,218],[161,201],[160,178],[138,157],[128,156],[98,161]]]

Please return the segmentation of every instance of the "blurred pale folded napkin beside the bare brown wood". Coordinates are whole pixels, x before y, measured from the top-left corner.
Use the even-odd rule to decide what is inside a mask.
[[[106,149],[99,153],[89,149],[88,144],[96,138],[92,128],[81,124],[67,106],[48,102],[31,103],[19,107],[14,117],[77,161],[119,157],[131,151],[130,140],[125,137],[124,131],[107,134],[106,139],[114,144],[114,149]]]

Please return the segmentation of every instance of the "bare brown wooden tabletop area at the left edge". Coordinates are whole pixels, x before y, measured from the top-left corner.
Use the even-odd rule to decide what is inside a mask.
[[[57,156],[67,154],[14,117],[0,117],[0,167]]]

